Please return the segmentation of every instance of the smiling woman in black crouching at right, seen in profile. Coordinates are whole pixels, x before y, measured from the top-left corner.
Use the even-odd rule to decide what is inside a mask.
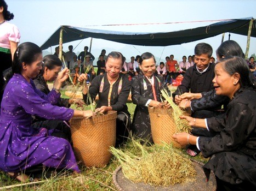
[[[223,118],[185,118],[191,126],[206,128],[214,136],[173,135],[181,145],[196,145],[204,157],[211,157],[203,166],[207,178],[212,170],[219,190],[256,188],[256,92],[249,78],[249,68],[241,57],[221,60],[215,66],[213,79],[217,95],[230,98]]]

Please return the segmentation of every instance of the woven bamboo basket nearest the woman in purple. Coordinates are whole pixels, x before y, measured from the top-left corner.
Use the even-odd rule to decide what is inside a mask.
[[[110,146],[116,142],[116,111],[91,118],[72,118],[71,139],[77,160],[88,167],[103,167],[112,154]]]

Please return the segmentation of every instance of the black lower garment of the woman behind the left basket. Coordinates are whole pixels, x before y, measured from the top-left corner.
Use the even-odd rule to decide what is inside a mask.
[[[116,119],[116,147],[127,141],[130,132],[130,115],[124,112],[117,113]]]

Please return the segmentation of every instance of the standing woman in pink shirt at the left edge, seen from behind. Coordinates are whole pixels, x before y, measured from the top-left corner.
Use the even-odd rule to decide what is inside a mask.
[[[12,67],[13,55],[20,39],[18,27],[7,22],[14,17],[7,9],[8,5],[5,1],[0,0],[0,103],[5,83],[3,71]]]

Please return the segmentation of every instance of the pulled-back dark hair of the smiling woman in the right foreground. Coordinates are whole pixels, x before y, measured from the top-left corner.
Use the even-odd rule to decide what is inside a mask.
[[[220,60],[220,63],[223,63],[223,69],[227,74],[240,74],[239,83],[241,87],[253,87],[254,89],[256,88],[254,81],[251,79],[251,77],[249,77],[251,71],[245,59],[238,56],[225,57],[224,59]]]

